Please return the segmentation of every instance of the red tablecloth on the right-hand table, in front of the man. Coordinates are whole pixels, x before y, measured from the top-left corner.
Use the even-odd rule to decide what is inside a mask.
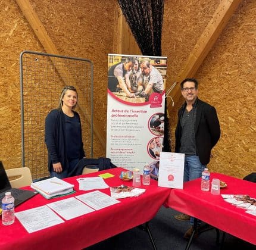
[[[256,198],[256,183],[218,173],[212,173],[213,178],[227,183],[221,194],[247,194]],[[256,245],[256,216],[225,202],[221,195],[202,191],[200,184],[201,179],[196,179],[184,183],[183,189],[171,189],[167,206]]]

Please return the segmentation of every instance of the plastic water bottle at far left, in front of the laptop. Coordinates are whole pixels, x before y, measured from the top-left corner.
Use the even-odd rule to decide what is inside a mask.
[[[7,226],[14,223],[14,198],[11,192],[6,192],[2,199],[2,224]]]

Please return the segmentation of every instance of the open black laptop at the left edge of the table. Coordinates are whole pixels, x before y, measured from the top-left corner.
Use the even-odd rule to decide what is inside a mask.
[[[2,161],[0,161],[0,208],[2,207],[2,199],[6,192],[11,192],[11,195],[14,197],[14,207],[27,201],[27,199],[32,198],[38,193],[36,191],[12,188],[7,173],[5,172],[4,165],[2,164]]]

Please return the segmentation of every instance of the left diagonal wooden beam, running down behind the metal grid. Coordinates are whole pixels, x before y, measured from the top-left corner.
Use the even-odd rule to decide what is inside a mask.
[[[43,27],[42,22],[40,21],[38,15],[36,14],[35,10],[33,9],[32,5],[30,4],[29,0],[16,0],[18,6],[20,7],[21,11],[23,12],[24,16],[26,17],[27,21],[29,22],[30,26],[32,27],[33,31],[35,32],[36,36],[38,37],[40,43],[42,44],[43,48],[45,49],[46,53],[60,55],[58,49],[52,42],[52,39],[48,36],[45,27]],[[51,57],[50,57],[51,58]],[[51,58],[52,59],[52,58]],[[60,74],[61,79],[63,82],[67,82],[65,80],[67,76],[67,70],[64,70],[63,67],[58,67],[57,64],[52,60],[55,68],[57,69],[58,73]],[[68,74],[71,76],[71,74]],[[68,85],[71,84],[76,86],[76,81],[74,79],[68,78]],[[72,83],[73,82],[73,83]],[[77,90],[82,93],[82,90]],[[81,95],[81,94],[79,94]],[[87,112],[88,107],[83,107],[82,114],[85,116],[86,121],[90,124],[90,114]],[[89,109],[90,110],[90,109]],[[106,148],[106,136],[103,133],[103,130],[97,125],[93,125],[93,133],[98,138],[99,142],[101,143],[102,147]]]

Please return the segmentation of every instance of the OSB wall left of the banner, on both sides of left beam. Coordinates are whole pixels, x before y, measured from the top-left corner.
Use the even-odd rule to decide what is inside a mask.
[[[30,3],[60,55],[93,61],[93,119],[101,127],[100,133],[105,134],[107,54],[113,52],[115,1],[31,0]],[[14,0],[1,1],[0,11],[0,160],[6,168],[13,168],[21,165],[19,55],[24,50],[46,51]],[[94,157],[101,156],[105,156],[105,148],[95,136]]]

